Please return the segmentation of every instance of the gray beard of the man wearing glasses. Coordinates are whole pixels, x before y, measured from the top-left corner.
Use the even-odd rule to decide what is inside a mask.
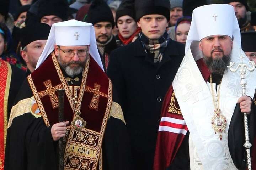
[[[85,62],[80,62],[80,61],[74,62],[74,61],[71,61],[69,63],[64,63],[64,61],[62,60],[62,58],[60,56],[57,56],[57,60],[58,60],[58,62],[60,64],[60,67],[62,67],[65,70],[66,74],[68,74],[72,78],[75,75],[78,75],[78,74],[80,74],[82,72],[82,70],[85,67],[85,63],[87,61],[87,60]],[[79,66],[71,68],[70,64],[79,64]]]

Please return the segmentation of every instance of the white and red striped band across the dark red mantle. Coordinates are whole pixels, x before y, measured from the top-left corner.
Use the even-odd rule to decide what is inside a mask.
[[[175,134],[186,135],[188,128],[183,119],[175,119],[170,117],[162,117],[158,131],[167,131]]]

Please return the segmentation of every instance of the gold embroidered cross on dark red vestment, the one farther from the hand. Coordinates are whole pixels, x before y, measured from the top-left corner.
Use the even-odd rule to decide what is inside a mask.
[[[94,94],[94,96],[92,97],[89,108],[90,109],[95,109],[96,111],[98,110],[98,101],[99,101],[100,96],[103,96],[103,97],[106,97],[106,98],[108,97],[107,94],[100,92],[100,85],[97,84],[97,83],[94,83],[94,89],[92,89],[89,86],[85,86],[85,91],[92,92]]]

